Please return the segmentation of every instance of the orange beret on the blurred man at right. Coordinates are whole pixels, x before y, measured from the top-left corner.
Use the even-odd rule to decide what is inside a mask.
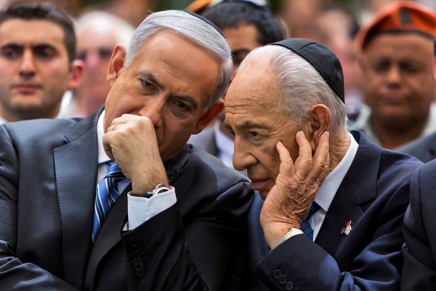
[[[356,47],[363,50],[379,33],[414,32],[436,39],[436,11],[413,1],[388,4],[356,35]]]

